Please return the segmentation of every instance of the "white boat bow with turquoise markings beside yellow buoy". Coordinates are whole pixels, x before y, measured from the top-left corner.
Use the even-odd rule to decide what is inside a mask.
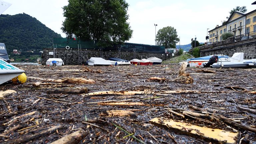
[[[20,74],[24,73],[24,70],[21,70],[6,61],[0,57],[0,84],[7,82],[16,76],[19,76]]]

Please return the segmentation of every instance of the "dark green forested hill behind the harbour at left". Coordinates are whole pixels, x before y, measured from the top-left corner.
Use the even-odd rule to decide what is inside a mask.
[[[61,37],[28,14],[0,15],[0,43],[5,43],[8,54],[13,49],[41,51],[52,46],[52,38]]]

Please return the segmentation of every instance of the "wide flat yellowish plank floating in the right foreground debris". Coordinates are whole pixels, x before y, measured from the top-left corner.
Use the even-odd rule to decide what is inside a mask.
[[[238,132],[227,132],[221,129],[211,129],[200,127],[189,123],[176,122],[172,119],[154,118],[149,121],[152,124],[167,127],[173,131],[201,138],[210,142],[235,144],[238,137]]]

